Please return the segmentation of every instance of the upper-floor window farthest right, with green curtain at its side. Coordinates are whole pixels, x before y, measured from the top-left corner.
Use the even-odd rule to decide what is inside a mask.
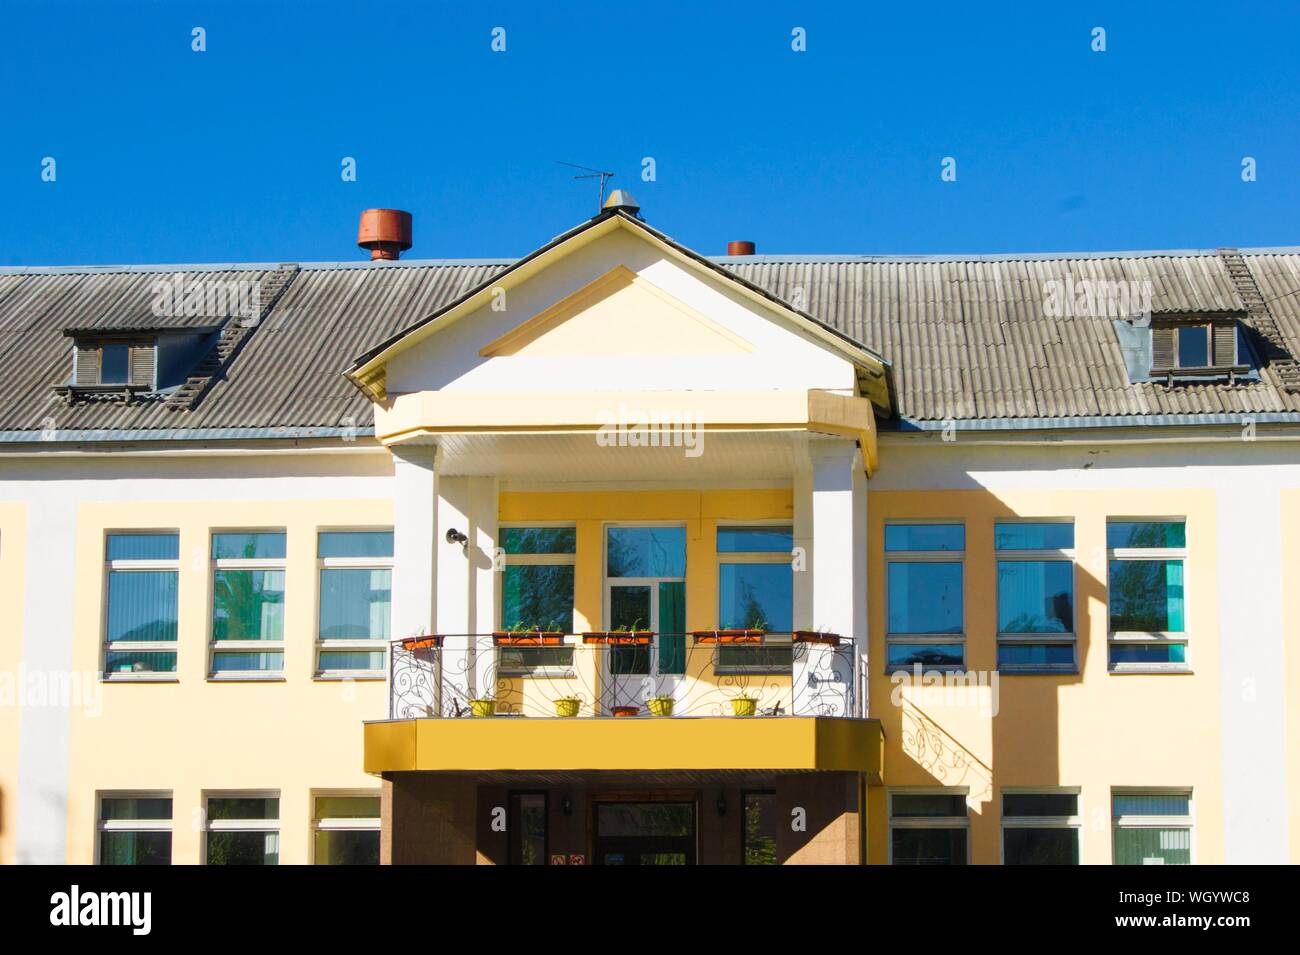
[[[1112,672],[1187,669],[1180,520],[1106,524]]]

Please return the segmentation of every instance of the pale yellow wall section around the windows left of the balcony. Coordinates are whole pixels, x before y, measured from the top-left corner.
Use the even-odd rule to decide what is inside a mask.
[[[96,791],[170,790],[173,861],[198,863],[204,791],[278,790],[282,864],[311,859],[313,789],[378,791],[361,770],[361,724],[386,716],[384,681],[313,680],[316,533],[391,525],[387,500],[81,505],[73,668],[101,665],[108,530],[179,530],[179,625],[177,682],[105,682],[101,715],[72,713],[69,863],[94,859]],[[209,533],[259,528],[287,531],[285,680],[208,681]]]

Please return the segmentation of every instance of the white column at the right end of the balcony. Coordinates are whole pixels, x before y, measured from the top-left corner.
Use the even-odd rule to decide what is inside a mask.
[[[866,478],[862,456],[848,439],[809,443],[811,479],[796,477],[794,518],[811,525],[810,613],[806,629],[840,634],[838,647],[796,646],[794,712],[852,716],[857,674],[854,647],[866,647]],[[796,531],[798,537],[798,531]],[[800,576],[796,576],[798,592]],[[797,604],[798,605],[798,604]],[[797,620],[800,617],[796,617]],[[859,708],[859,712],[862,709]]]

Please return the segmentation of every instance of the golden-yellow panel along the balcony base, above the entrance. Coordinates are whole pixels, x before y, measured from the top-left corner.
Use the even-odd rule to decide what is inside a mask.
[[[365,724],[365,772],[857,772],[883,780],[879,720],[420,719]]]

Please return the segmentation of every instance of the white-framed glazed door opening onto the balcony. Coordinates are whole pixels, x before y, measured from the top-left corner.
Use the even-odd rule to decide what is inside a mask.
[[[686,672],[686,529],[606,529],[604,618],[610,630],[654,630],[649,647],[610,647],[604,654],[602,708],[636,706],[650,696],[677,696]]]

